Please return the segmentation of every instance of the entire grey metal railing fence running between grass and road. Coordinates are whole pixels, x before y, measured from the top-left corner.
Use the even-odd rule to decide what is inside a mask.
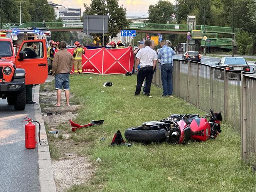
[[[153,83],[162,87],[157,64]],[[242,75],[241,75],[242,73]],[[242,79],[241,79],[242,78]],[[198,108],[215,112],[241,131],[241,156],[256,157],[256,74],[229,71],[207,64],[173,60],[173,94]],[[242,86],[241,86],[242,85]]]

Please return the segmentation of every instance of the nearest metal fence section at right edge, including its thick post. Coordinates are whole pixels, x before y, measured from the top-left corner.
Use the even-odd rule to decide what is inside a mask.
[[[256,166],[256,74],[241,77],[241,156]]]

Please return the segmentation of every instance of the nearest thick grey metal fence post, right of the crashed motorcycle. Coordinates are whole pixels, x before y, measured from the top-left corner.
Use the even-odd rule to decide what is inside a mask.
[[[247,158],[247,111],[246,111],[246,77],[241,75],[241,156],[243,160]]]

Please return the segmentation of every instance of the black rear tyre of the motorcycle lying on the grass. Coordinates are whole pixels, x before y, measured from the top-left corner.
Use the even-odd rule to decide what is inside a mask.
[[[131,127],[125,131],[125,138],[128,141],[135,142],[157,142],[165,141],[165,129],[148,130],[140,129],[138,127]]]

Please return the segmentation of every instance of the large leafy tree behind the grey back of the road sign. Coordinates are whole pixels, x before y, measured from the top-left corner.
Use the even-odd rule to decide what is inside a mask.
[[[126,20],[126,8],[118,5],[118,0],[91,0],[91,4],[84,3],[83,15],[108,15],[108,33],[104,35],[104,44],[111,38],[117,37],[121,29],[126,29],[130,22]],[[92,34],[96,37],[96,34]],[[102,35],[98,36],[102,38]]]

